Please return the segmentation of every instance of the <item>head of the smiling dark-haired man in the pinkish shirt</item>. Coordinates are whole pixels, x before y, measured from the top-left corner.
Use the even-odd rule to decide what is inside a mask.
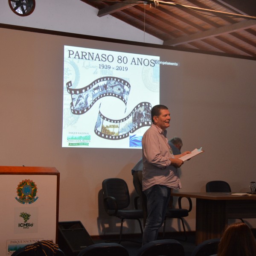
[[[170,126],[170,112],[168,108],[164,105],[155,105],[151,109],[151,120],[154,125],[165,130]]]

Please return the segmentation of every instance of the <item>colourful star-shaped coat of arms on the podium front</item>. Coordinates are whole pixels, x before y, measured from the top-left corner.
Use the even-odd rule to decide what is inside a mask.
[[[37,187],[33,180],[22,180],[17,187],[17,195],[15,199],[20,204],[32,204],[38,197],[36,197]]]

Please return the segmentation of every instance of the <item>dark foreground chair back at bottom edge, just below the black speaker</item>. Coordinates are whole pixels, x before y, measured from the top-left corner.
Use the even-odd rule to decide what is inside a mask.
[[[77,256],[129,256],[129,253],[121,244],[101,243],[87,246]]]

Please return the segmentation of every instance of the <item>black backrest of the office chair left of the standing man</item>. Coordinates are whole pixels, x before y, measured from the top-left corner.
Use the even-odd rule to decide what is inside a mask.
[[[130,204],[130,195],[127,183],[119,178],[108,178],[102,182],[103,198],[113,197],[116,199],[117,208],[124,209]],[[108,209],[115,209],[111,202],[107,201]]]

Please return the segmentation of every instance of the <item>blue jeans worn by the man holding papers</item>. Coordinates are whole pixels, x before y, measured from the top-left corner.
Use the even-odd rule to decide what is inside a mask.
[[[144,191],[147,196],[148,217],[143,232],[142,245],[157,240],[158,230],[163,225],[171,189],[154,185]]]

